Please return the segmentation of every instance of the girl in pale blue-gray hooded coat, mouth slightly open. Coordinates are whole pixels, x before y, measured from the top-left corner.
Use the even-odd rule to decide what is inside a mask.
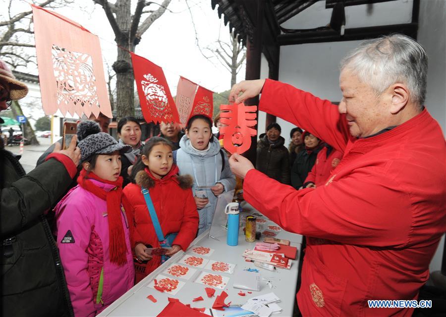
[[[211,226],[217,196],[235,188],[235,176],[219,140],[212,134],[209,117],[197,114],[187,121],[186,135],[176,152],[176,164],[180,174],[194,178],[194,199],[200,216],[198,234],[201,234]]]

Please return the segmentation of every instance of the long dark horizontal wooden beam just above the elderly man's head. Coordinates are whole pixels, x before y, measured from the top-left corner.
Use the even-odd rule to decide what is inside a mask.
[[[406,23],[345,29],[345,34],[343,36],[340,36],[335,30],[322,30],[280,34],[277,39],[280,46],[306,43],[357,41],[376,38],[391,33],[401,33],[416,39],[417,31],[418,23]]]

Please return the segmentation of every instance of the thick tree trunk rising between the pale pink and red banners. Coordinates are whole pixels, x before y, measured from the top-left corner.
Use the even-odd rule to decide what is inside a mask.
[[[118,46],[125,50],[134,51],[134,46],[129,43],[131,25],[130,1],[118,0],[116,6],[116,23],[122,31],[120,38],[116,38]],[[135,114],[135,100],[133,94],[133,67],[130,53],[117,48],[117,60],[113,63],[116,72],[116,117],[119,120],[125,116]]]

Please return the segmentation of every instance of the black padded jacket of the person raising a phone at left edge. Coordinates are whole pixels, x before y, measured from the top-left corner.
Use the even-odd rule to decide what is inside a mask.
[[[57,246],[44,212],[71,183],[50,159],[25,176],[0,144],[2,316],[73,316]]]

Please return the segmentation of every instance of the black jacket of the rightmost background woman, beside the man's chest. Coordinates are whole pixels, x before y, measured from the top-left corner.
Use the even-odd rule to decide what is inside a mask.
[[[308,173],[316,162],[319,151],[323,148],[324,144],[321,142],[313,151],[303,150],[297,154],[291,167],[291,186],[295,189],[299,189],[303,186],[305,178],[307,178]]]

